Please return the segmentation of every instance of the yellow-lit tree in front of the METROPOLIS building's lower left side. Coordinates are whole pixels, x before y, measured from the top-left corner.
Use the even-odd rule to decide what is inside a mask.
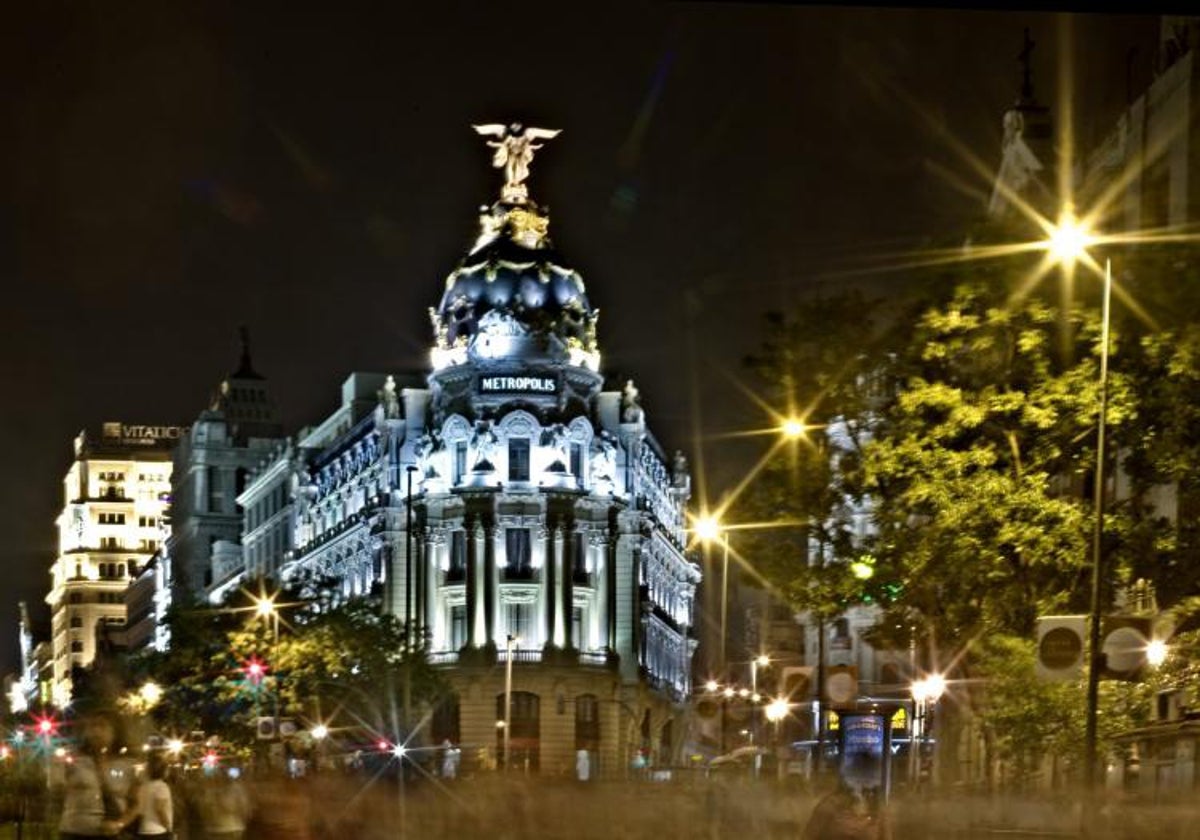
[[[162,731],[248,744],[254,719],[277,715],[302,725],[337,718],[394,738],[409,725],[400,714],[406,679],[418,707],[445,694],[424,648],[409,649],[400,623],[373,601],[326,607],[282,593],[277,602],[286,613],[277,640],[274,619],[257,617],[245,594],[217,608],[172,610],[170,650],[138,667],[164,689],[154,710]]]

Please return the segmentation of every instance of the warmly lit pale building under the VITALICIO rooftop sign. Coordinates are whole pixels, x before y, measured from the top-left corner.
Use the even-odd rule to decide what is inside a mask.
[[[59,553],[50,568],[52,698],[71,697],[71,670],[125,626],[125,592],[163,536],[170,448],[179,426],[106,422],[80,432],[62,482]]]

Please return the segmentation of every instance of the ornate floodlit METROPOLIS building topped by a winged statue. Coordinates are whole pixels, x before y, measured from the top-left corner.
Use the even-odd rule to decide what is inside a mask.
[[[480,132],[506,184],[431,310],[432,371],[352,374],[338,410],[259,462],[242,576],[380,594],[456,692],[434,742],[503,761],[510,671],[511,764],[670,762],[700,583],[686,461],[632,382],[605,389],[598,312],[523,184],[552,133]]]

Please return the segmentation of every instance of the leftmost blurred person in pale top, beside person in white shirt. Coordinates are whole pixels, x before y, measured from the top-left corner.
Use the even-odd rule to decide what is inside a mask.
[[[110,838],[136,817],[130,803],[132,770],[113,755],[116,721],[110,715],[85,715],[79,733],[78,754],[65,770],[59,838]]]

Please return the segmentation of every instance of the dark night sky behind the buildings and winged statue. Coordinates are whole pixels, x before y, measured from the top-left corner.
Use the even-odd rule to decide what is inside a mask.
[[[1130,47],[1150,78],[1158,29],[744,4],[19,6],[0,31],[0,673],[17,601],[44,614],[79,428],[188,422],[239,324],[293,430],[350,371],[425,368],[426,310],[498,193],[472,122],[564,130],[532,194],[602,311],[606,367],[694,450],[692,378],[706,431],[761,425],[725,374],[764,311],[979,214],[944,173],[988,186],[947,138],[996,162],[1024,26],[1051,106],[1073,34],[1085,138],[1123,103]],[[708,450],[710,484],[744,457]]]

